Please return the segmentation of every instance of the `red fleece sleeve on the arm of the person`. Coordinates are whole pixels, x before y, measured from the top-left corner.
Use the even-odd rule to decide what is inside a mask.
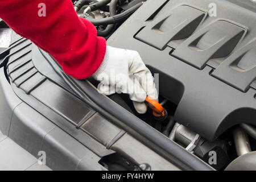
[[[46,16],[40,3],[46,5]],[[97,36],[92,23],[77,16],[71,0],[0,0],[0,18],[77,79],[92,75],[104,59],[105,39]]]

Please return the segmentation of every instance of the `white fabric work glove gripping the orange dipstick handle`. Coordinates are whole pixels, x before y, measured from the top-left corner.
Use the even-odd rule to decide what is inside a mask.
[[[140,114],[147,111],[144,103],[147,96],[158,100],[154,77],[137,51],[107,46],[104,60],[92,77],[100,81],[100,93],[107,96],[121,92],[129,94]]]

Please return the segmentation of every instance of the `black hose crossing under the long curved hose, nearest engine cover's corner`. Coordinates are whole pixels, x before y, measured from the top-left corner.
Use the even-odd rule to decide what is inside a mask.
[[[117,3],[118,3],[118,1],[119,0],[112,0],[111,2],[110,2],[110,5],[109,5],[109,14],[110,14],[110,16],[114,16],[114,15],[116,15],[117,14]],[[108,36],[108,35],[110,35],[110,33],[113,31],[113,29],[114,29],[114,24],[109,24],[106,28],[105,28],[105,30],[102,30],[102,31],[100,31],[100,30],[98,30],[97,31],[97,35],[98,36]]]

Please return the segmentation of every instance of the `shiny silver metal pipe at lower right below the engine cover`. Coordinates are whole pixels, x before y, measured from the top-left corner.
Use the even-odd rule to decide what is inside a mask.
[[[241,127],[235,127],[233,129],[233,138],[238,156],[251,152],[248,136]]]

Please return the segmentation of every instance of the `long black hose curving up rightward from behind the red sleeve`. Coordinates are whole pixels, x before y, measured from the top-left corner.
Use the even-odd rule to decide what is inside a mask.
[[[94,26],[100,26],[100,25],[107,25],[107,24],[114,24],[118,22],[122,22],[123,20],[129,18],[131,14],[134,13],[139,7],[141,7],[142,3],[138,3],[137,5],[131,7],[130,9],[124,11],[123,13],[120,13],[118,15],[110,16],[108,18],[98,18],[98,19],[92,19],[92,18],[86,18],[90,22],[94,24]]]

